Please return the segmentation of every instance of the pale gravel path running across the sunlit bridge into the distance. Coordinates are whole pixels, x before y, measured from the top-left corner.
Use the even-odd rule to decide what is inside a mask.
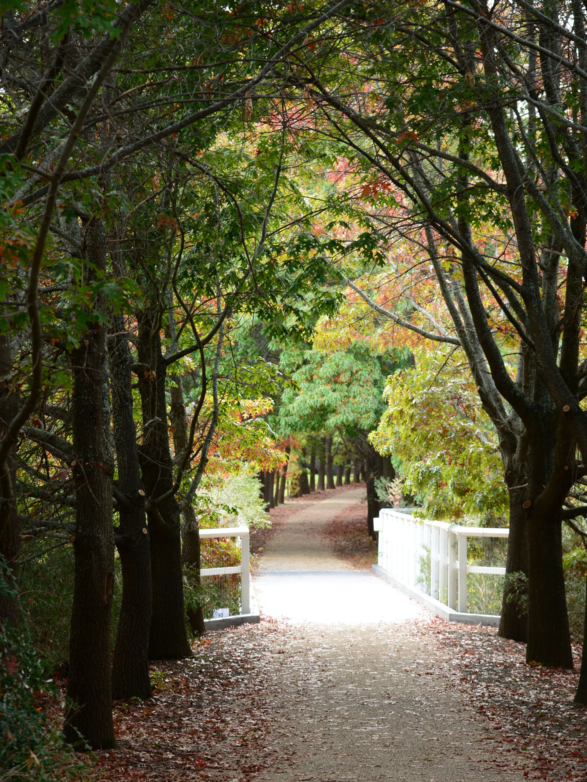
[[[322,540],[330,519],[364,493],[305,504],[259,560],[261,612],[280,632],[259,637],[279,645],[267,692],[278,725],[275,764],[257,779],[521,782],[502,764],[490,723],[435,665],[438,646],[426,633],[434,620]]]

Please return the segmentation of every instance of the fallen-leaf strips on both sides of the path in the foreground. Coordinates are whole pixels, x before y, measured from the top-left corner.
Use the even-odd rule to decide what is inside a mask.
[[[497,736],[504,772],[587,779],[587,710],[572,703],[578,673],[526,665],[522,644],[488,628],[423,621],[413,634],[438,652],[434,679],[474,705],[494,747]],[[293,768],[296,744],[272,698],[295,635],[264,621],[211,633],[192,660],[153,666],[153,701],[116,705],[118,748],[99,753],[95,775],[248,782]]]

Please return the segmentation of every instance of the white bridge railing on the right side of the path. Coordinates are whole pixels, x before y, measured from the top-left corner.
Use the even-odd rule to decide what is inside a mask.
[[[467,539],[506,538],[509,529],[423,521],[409,508],[384,508],[373,571],[449,622],[499,625],[499,615],[467,611],[467,573],[505,575],[503,567],[467,565]],[[429,569],[429,572],[428,572]],[[423,585],[430,585],[430,593]]]

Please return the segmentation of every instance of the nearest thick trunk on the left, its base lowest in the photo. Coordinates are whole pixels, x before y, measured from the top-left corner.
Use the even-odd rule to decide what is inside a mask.
[[[88,261],[106,268],[106,231],[93,219],[86,229]],[[90,275],[94,272],[90,271]],[[104,311],[99,294],[95,309]],[[71,744],[116,745],[110,679],[110,614],[114,589],[113,459],[106,327],[92,323],[81,345],[70,353],[74,375],[72,432],[75,464],[74,602],[64,734]],[[81,735],[81,738],[80,738]]]

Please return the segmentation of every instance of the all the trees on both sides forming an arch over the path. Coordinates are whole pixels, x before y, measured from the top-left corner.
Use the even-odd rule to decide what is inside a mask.
[[[293,474],[296,449],[310,458],[331,432],[364,463],[376,515],[368,435],[385,378],[417,356],[406,330],[459,351],[498,439],[507,570],[528,591],[521,610],[510,579],[500,632],[572,666],[561,523],[587,507],[586,58],[578,2],[5,12],[0,545],[17,579],[21,529],[73,543],[70,741],[114,740],[115,546],[115,693],[145,697],[149,658],[189,654],[182,557],[197,563],[216,447],[271,472],[268,421],[292,438]],[[347,285],[348,335],[367,310],[375,328],[334,345]],[[275,421],[247,402],[283,383],[251,353],[258,323],[294,383]],[[17,622],[13,594],[0,601]]]

